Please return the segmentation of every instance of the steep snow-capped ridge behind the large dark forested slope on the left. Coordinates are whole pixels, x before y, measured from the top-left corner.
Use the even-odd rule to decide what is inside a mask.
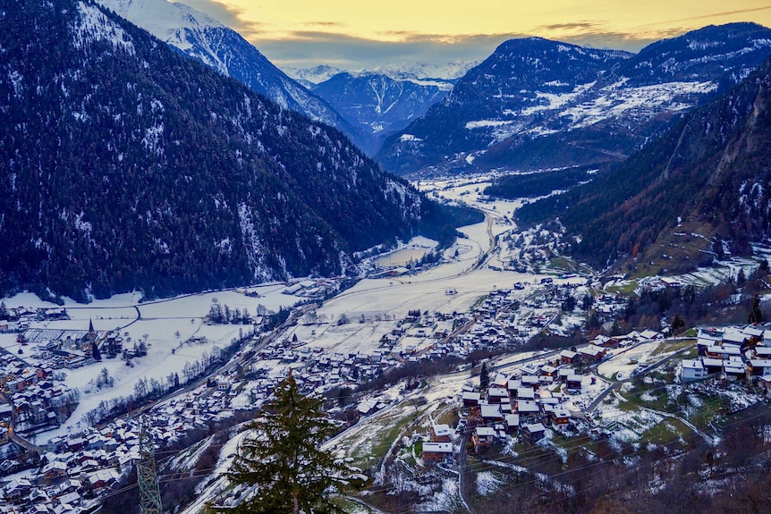
[[[346,133],[365,151],[370,141],[324,100],[292,80],[246,39],[208,14],[166,0],[98,0],[185,55],[240,80],[276,104]]]

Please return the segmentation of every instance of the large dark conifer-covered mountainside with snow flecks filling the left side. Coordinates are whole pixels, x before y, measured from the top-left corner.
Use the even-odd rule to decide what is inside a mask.
[[[0,0],[0,113],[0,295],[340,274],[455,221],[335,129],[90,2]]]

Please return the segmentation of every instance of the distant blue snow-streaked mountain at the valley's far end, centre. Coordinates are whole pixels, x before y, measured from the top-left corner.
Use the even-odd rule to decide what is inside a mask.
[[[396,80],[377,72],[343,72],[312,90],[361,130],[381,135],[402,130],[452,88],[449,80]]]

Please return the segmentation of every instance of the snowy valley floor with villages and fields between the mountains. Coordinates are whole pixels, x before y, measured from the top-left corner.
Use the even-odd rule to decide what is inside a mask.
[[[469,190],[479,184],[451,192],[469,198]],[[756,386],[767,388],[771,376],[764,325],[534,343],[568,338],[589,322],[609,334],[627,299],[580,266],[550,262],[544,231],[512,236],[508,214],[517,205],[485,202],[487,221],[464,227],[466,238],[442,250],[438,264],[418,264],[435,244],[415,240],[365,257],[366,278],[344,286],[342,278],[305,277],[157,302],[24,307],[35,304],[31,295],[8,299],[0,513],[93,510],[133,473],[142,434],[159,455],[193,459],[197,445],[164,449],[188,434],[208,434],[201,444],[209,447],[213,430],[252,416],[290,373],[302,392],[326,394],[342,431],[329,449],[375,485],[405,469],[408,482],[436,472],[444,478],[434,493],[445,496],[458,496],[446,489],[460,479],[448,482],[445,470],[457,474],[470,458],[495,460],[528,445],[560,453],[555,442],[582,437],[645,442],[672,416],[650,400],[664,387],[730,382],[732,409],[763,400]],[[645,416],[621,408],[630,392]],[[670,423],[682,432],[668,436],[705,434],[682,419],[682,427]],[[181,512],[220,499],[233,441],[198,477],[200,500]],[[386,466],[392,459],[397,465]],[[158,462],[165,473],[194,468],[182,460]]]

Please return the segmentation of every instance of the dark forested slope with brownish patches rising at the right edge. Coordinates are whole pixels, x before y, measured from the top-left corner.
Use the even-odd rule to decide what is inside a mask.
[[[628,161],[518,215],[523,223],[559,217],[574,241],[573,254],[597,267],[616,259],[648,265],[679,250],[679,265],[687,260],[694,267],[711,254],[689,253],[688,241],[704,238],[721,241],[712,245],[718,254],[728,241],[733,253],[748,255],[751,242],[771,233],[769,141],[766,61]]]

